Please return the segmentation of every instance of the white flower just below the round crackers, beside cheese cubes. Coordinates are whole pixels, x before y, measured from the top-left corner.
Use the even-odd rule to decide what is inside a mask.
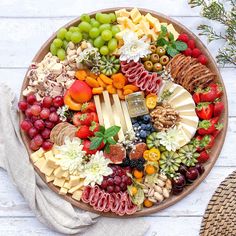
[[[73,138],[72,141],[69,137],[65,138],[65,144],[58,146],[59,154],[55,157],[58,159],[57,164],[63,170],[68,170],[71,175],[80,175],[83,171],[83,157],[86,152],[83,151],[83,145],[79,138]]]

